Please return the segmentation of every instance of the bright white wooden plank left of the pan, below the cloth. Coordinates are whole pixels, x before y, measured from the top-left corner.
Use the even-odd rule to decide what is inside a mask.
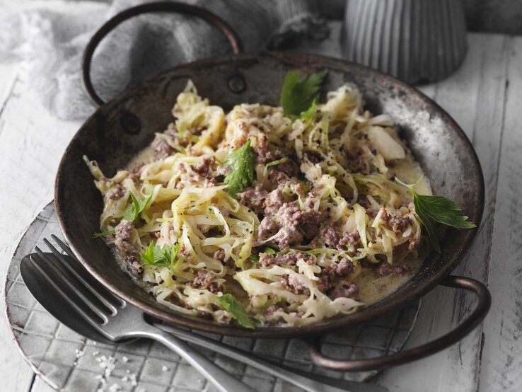
[[[23,79],[16,81],[0,117],[0,171],[4,175],[0,205],[0,308],[4,280],[13,251],[25,229],[52,200],[54,175],[66,144],[79,122],[51,117],[35,103]],[[18,353],[4,317],[0,321],[2,391],[27,392],[33,371]]]

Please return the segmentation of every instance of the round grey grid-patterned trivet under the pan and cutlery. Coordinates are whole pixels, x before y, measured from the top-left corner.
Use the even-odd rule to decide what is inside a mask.
[[[25,287],[19,266],[23,256],[31,253],[35,246],[45,250],[42,239],[51,234],[62,238],[54,206],[49,204],[33,221],[18,245],[8,268],[5,289],[6,312],[16,344],[37,374],[61,391],[109,391],[114,384],[120,386],[119,389],[115,388],[117,391],[214,391],[214,387],[207,385],[204,378],[187,362],[157,342],[138,340],[119,345],[93,342],[69,330],[47,313]],[[322,339],[322,350],[339,359],[376,357],[398,352],[410,337],[419,304],[360,327],[329,333]],[[362,381],[377,373],[342,373],[317,367],[308,358],[306,344],[298,339],[231,338],[211,333],[202,335],[296,369],[335,378]],[[216,364],[260,392],[301,391],[233,359],[209,350],[202,351]],[[100,366],[100,358],[103,356],[115,359],[115,369],[107,377],[103,376],[105,369]]]

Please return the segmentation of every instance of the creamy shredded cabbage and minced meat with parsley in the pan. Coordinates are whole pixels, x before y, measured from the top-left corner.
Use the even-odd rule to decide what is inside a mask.
[[[188,81],[175,121],[125,170],[107,178],[85,158],[104,200],[95,236],[158,302],[245,328],[308,325],[397,289],[429,242],[440,251],[437,222],[474,227],[354,86],[319,103],[324,78],[291,71],[281,107],[228,113]]]

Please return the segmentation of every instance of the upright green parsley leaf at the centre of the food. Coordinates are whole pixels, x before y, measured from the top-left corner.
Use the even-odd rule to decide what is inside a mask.
[[[236,151],[228,154],[225,158],[225,165],[232,169],[225,176],[225,183],[228,185],[228,193],[236,196],[236,193],[243,192],[243,189],[250,186],[254,180],[254,153],[250,149],[250,139]]]

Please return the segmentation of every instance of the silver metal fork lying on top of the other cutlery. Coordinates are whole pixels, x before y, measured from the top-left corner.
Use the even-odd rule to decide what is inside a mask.
[[[72,255],[69,247],[62,241],[54,236],[53,239],[57,241],[60,248]],[[37,255],[31,258],[35,267],[49,280],[54,289],[62,294],[63,299],[102,335],[115,342],[129,338],[156,340],[189,362],[192,367],[214,384],[219,391],[255,392],[255,389],[243,384],[236,377],[218,367],[186,342],[147,323],[144,320],[143,311],[136,306],[127,304],[127,302],[110,294],[107,290],[102,294],[100,289],[97,289],[87,281],[85,274],[79,273],[71,263],[67,263],[63,255],[49,241],[45,240],[45,243],[50,247],[57,260],[60,261],[62,267],[65,267],[65,270],[74,276],[76,282],[74,279],[71,279],[70,275],[66,275],[63,268],[54,265],[52,260],[39,248],[36,248]],[[52,270],[59,279],[52,278],[42,265],[49,267],[49,270]]]

